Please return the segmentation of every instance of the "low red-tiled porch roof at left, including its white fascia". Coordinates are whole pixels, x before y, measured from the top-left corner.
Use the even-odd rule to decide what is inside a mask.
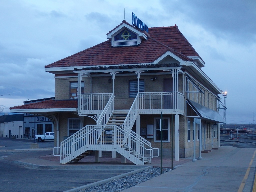
[[[77,100],[47,100],[11,107],[13,113],[40,113],[40,112],[76,112]]]

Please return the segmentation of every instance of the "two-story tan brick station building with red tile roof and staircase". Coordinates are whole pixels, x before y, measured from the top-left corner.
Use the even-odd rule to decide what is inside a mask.
[[[55,100],[10,108],[54,121],[61,163],[113,151],[144,164],[158,153],[161,123],[163,154],[173,144],[176,161],[219,146],[222,91],[201,70],[204,61],[176,25],[138,21],[133,15],[107,41],[45,66]]]

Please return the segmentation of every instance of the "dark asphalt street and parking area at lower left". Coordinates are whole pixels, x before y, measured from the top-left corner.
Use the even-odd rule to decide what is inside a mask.
[[[15,152],[14,149],[29,148],[29,140],[0,138],[0,191],[66,191],[79,186],[108,179],[132,170],[88,170],[88,169],[31,169],[12,163],[28,156],[39,157],[52,154],[52,151]],[[39,145],[52,145],[43,142]]]

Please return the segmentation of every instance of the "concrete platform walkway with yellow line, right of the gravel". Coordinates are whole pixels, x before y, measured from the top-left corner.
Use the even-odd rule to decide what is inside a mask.
[[[202,160],[184,163],[123,192],[249,192],[254,183],[255,150],[222,146],[202,154]]]

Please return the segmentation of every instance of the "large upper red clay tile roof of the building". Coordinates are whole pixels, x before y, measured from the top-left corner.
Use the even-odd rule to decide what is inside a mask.
[[[149,34],[150,37],[142,40],[139,46],[112,47],[108,40],[45,68],[152,63],[167,51],[186,61],[192,60],[187,56],[199,56],[176,25],[149,28]]]

